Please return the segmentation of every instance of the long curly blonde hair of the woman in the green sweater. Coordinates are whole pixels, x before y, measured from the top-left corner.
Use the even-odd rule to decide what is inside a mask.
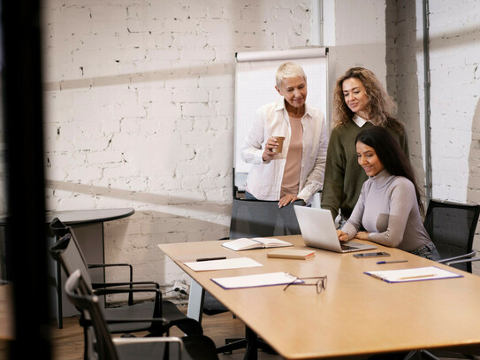
[[[389,96],[380,82],[370,70],[363,67],[352,67],[347,70],[343,76],[337,80],[333,91],[333,122],[332,126],[337,127],[347,124],[354,117],[354,112],[350,110],[344,100],[343,81],[347,79],[358,79],[362,81],[365,87],[365,93],[368,96],[367,111],[370,115],[370,122],[376,126],[392,126],[399,134],[403,133],[403,126],[400,121],[393,118],[397,111],[397,104]]]

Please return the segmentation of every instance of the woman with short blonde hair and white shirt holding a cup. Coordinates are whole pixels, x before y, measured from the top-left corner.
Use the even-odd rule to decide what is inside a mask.
[[[310,203],[324,183],[328,129],[322,111],[307,103],[307,76],[300,65],[284,63],[275,75],[280,99],[256,111],[240,156],[251,164],[245,197]],[[277,137],[283,137],[280,149]]]

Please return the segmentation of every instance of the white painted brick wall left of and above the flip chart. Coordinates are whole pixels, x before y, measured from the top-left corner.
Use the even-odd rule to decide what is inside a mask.
[[[235,52],[308,46],[312,1],[45,2],[48,209],[133,207],[106,261],[185,280],[156,245],[228,234]]]

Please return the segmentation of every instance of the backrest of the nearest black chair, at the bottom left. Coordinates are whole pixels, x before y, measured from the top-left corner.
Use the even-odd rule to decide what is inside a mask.
[[[68,234],[65,236],[68,236]],[[98,297],[92,294],[80,270],[73,271],[66,280],[65,294],[85,317],[91,319],[95,332],[95,353],[98,359],[117,360],[118,353],[113,341],[111,341],[110,332],[98,303]]]

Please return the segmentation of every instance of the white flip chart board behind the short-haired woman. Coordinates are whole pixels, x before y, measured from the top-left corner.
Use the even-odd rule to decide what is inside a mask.
[[[255,111],[265,103],[277,101],[275,73],[278,66],[291,61],[301,65],[307,74],[307,103],[324,112],[327,117],[328,49],[309,48],[300,50],[250,51],[237,53],[235,71],[235,142],[233,167],[235,185],[244,188],[248,170],[240,157],[240,147],[255,119]]]

